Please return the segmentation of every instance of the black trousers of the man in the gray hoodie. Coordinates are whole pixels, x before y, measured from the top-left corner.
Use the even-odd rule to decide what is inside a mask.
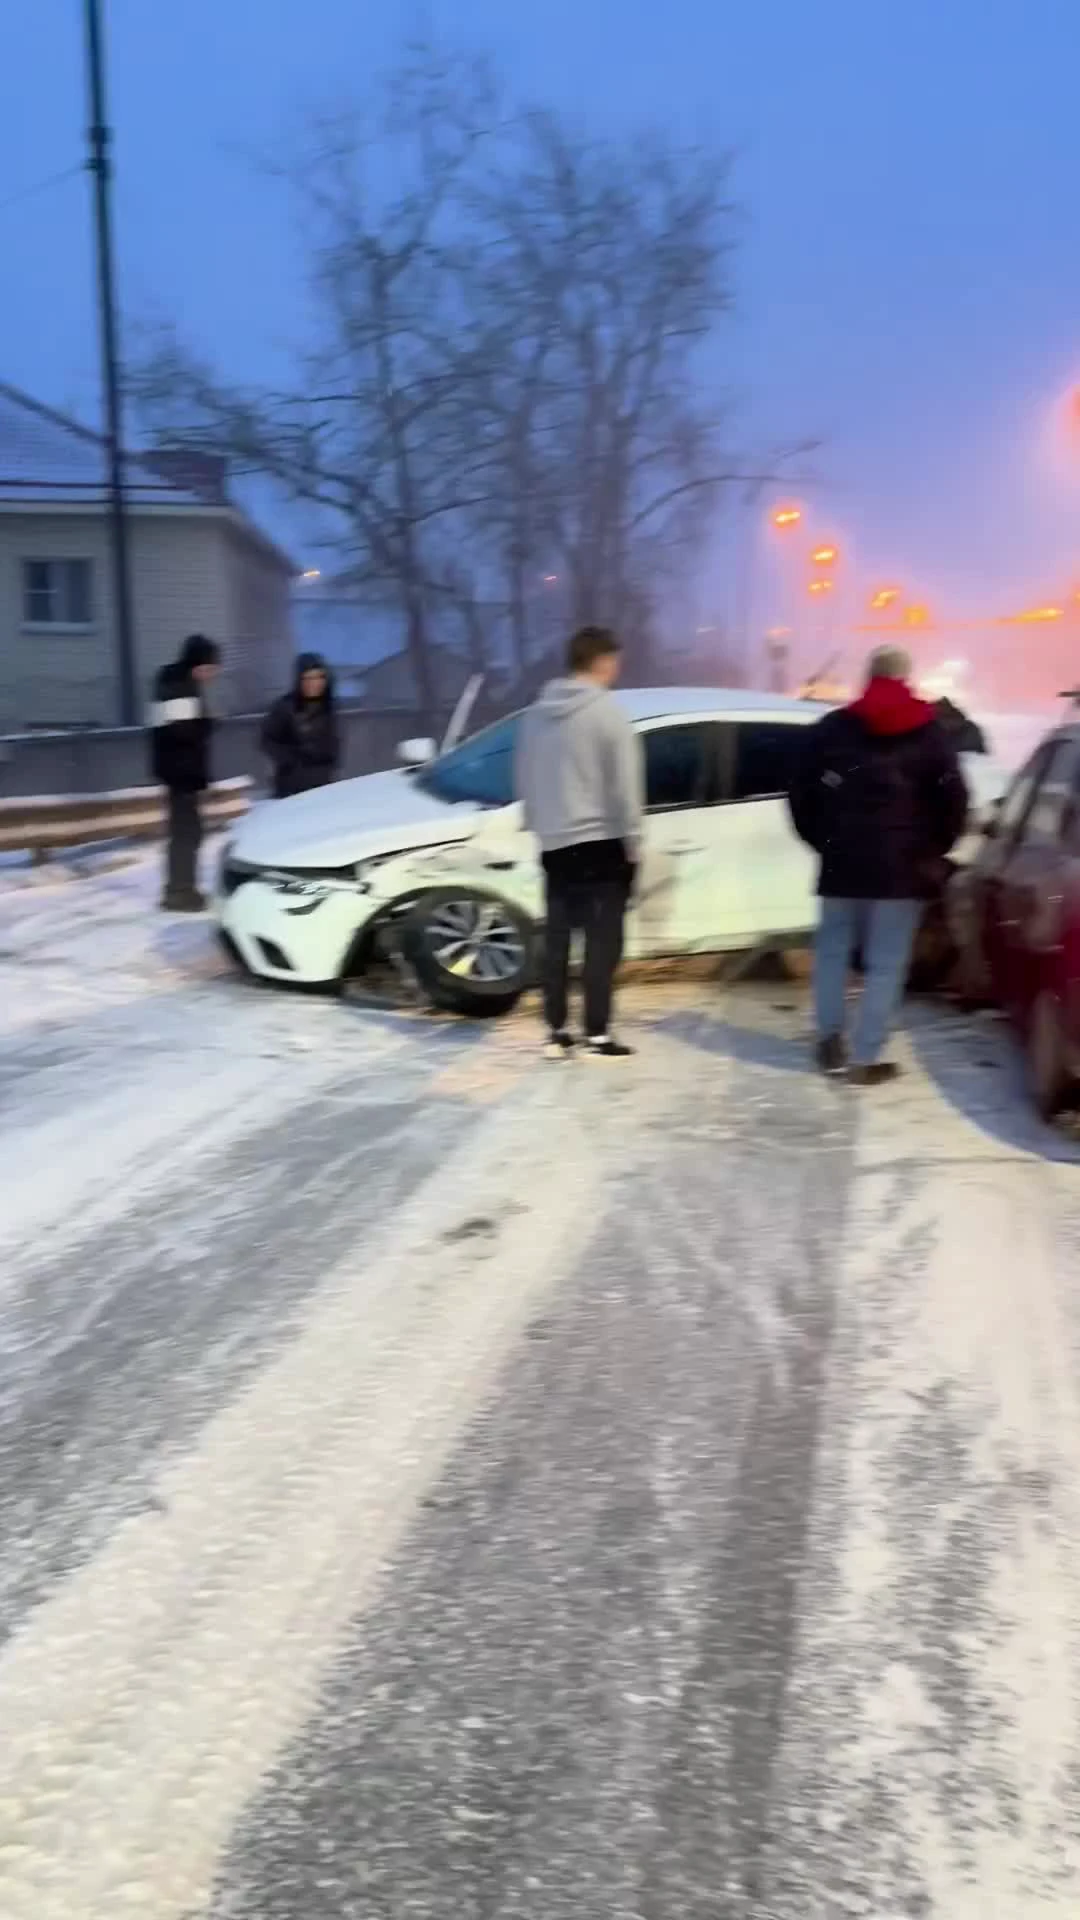
[[[607,1033],[611,989],[623,958],[623,922],[634,881],[623,841],[586,841],[544,854],[548,927],[544,935],[544,1018],[552,1033],[567,1025],[571,935],[584,933],[584,1031]]]

